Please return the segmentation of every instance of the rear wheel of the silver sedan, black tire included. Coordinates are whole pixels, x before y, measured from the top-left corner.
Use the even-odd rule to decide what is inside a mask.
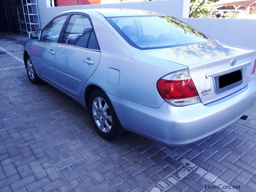
[[[102,138],[106,140],[116,138],[116,112],[108,96],[102,90],[92,91],[89,98],[89,113],[95,130]]]

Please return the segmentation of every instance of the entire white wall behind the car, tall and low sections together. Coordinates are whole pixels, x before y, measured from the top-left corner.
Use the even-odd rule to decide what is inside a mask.
[[[205,34],[229,44],[238,44],[256,49],[256,20],[188,18],[190,0],[160,0],[134,3],[74,5],[49,7],[49,0],[37,0],[39,19],[43,28],[55,15],[74,9],[127,8],[161,12],[182,19]]]

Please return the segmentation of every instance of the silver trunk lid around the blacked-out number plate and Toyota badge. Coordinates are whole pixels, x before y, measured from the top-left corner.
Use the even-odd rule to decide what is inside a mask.
[[[211,41],[180,47],[142,50],[142,52],[185,65],[203,104],[221,99],[246,86],[254,66],[256,51],[242,46]],[[236,59],[235,65],[231,60]],[[220,89],[219,76],[241,70],[242,80]]]

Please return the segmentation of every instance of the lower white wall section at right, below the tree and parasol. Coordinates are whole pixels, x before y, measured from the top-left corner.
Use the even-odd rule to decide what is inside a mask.
[[[256,49],[255,19],[183,18],[183,21],[219,41]]]

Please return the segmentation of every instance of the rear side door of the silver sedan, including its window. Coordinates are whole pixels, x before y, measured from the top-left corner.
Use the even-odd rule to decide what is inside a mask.
[[[100,61],[100,49],[89,16],[69,16],[63,38],[55,53],[55,67],[60,87],[79,99],[86,80]]]

